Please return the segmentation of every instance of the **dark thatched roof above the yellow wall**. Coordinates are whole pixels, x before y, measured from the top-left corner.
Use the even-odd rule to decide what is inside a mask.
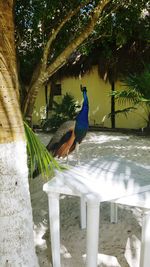
[[[147,42],[131,41],[120,48],[114,44],[109,57],[106,56],[104,48],[99,45],[88,56],[74,53],[53,78],[83,76],[97,65],[100,77],[111,83],[128,73],[140,72],[147,63],[150,64],[150,45],[147,45]]]

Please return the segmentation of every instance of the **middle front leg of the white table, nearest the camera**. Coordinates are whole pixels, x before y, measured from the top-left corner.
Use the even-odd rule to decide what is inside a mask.
[[[99,202],[87,202],[87,267],[97,266],[99,240],[99,210]]]

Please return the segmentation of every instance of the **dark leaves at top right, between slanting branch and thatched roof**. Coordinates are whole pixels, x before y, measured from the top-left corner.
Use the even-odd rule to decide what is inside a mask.
[[[109,58],[114,44],[120,48],[131,39],[148,41],[149,7],[147,0],[111,1],[103,12],[103,23],[100,18],[95,31],[82,45],[83,51],[87,53],[93,50],[93,45],[102,44],[103,52]]]

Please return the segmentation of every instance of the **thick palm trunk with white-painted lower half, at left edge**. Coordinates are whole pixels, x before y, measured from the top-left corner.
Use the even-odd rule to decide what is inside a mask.
[[[0,1],[0,25],[0,266],[38,267],[19,105],[12,0]]]

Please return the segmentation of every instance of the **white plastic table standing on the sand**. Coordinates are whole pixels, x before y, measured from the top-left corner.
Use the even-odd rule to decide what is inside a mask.
[[[137,200],[142,198],[143,202],[139,201],[141,207],[150,209],[150,167],[144,167],[132,161],[117,157],[96,158],[84,166],[71,167],[69,170],[56,172],[56,176],[44,184],[43,190],[48,194],[53,267],[61,267],[60,194],[80,197],[82,207],[84,203],[87,204],[86,266],[96,267],[100,203],[103,201],[113,201],[115,203],[140,206]],[[147,205],[145,206],[144,199],[146,194]],[[128,201],[128,198],[132,198],[132,201]],[[83,208],[81,215],[83,217],[81,218],[83,223],[86,217]],[[149,213],[144,218],[140,267],[149,267]],[[147,234],[148,237],[146,237]]]

